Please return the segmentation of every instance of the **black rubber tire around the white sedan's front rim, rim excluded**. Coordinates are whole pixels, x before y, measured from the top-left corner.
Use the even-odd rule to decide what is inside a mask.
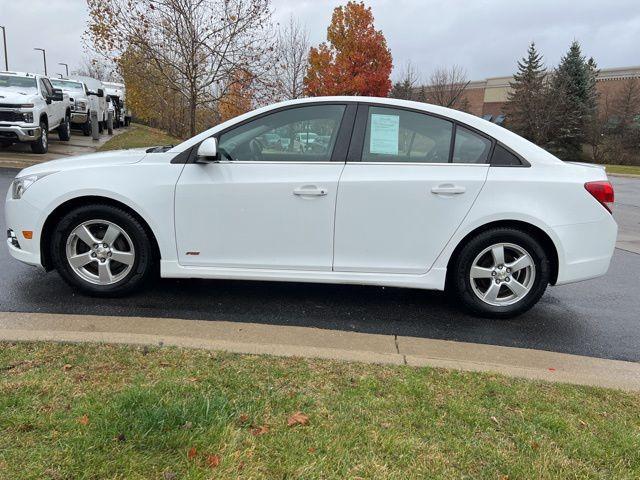
[[[133,242],[135,257],[129,273],[116,283],[99,285],[90,283],[77,274],[67,260],[67,239],[83,222],[102,220],[112,222],[123,229]],[[51,242],[51,258],[60,276],[72,287],[98,297],[116,297],[140,288],[156,269],[149,235],[141,222],[126,210],[111,205],[85,205],[64,217],[57,226]]]

